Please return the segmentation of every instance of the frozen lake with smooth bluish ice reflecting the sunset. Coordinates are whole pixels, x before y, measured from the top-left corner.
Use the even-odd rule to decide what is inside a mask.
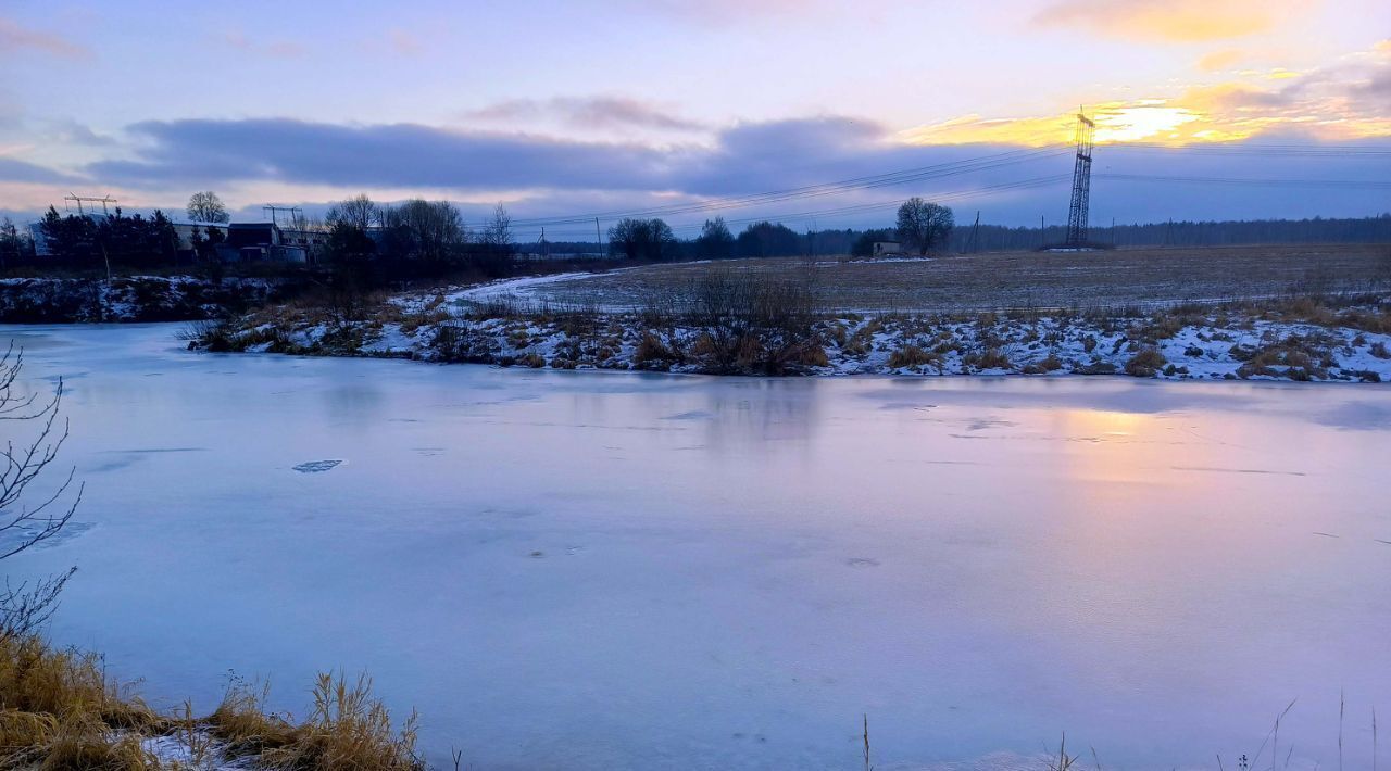
[[[1370,765],[1391,389],[714,379],[189,353],[64,375],[86,529],[51,629],[210,707],[367,670],[494,768]],[[13,431],[6,428],[6,431]],[[320,467],[313,461],[342,463]],[[1383,727],[1385,728],[1385,727]],[[1381,745],[1391,761],[1391,733]],[[1018,757],[1017,757],[1018,756]],[[954,765],[960,763],[961,765]]]

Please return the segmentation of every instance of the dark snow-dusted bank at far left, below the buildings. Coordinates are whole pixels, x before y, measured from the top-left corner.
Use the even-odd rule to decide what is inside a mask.
[[[0,324],[193,321],[280,299],[271,278],[175,276],[0,279]]]

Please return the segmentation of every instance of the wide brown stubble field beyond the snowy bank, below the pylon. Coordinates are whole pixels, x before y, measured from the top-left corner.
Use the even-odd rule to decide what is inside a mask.
[[[1141,318],[1185,300],[1205,306],[1252,297],[1298,297],[1385,290],[1387,247],[1234,246],[1120,249],[1045,254],[1004,251],[940,256],[925,261],[821,261],[814,270],[818,297],[830,310],[999,311],[1013,318],[1050,315],[1060,308],[1089,313],[1128,310]],[[712,271],[748,270],[772,278],[807,271],[801,258],[662,264],[579,282],[558,282],[540,295],[549,301],[600,301],[643,307],[662,296],[666,308],[684,307],[689,288]],[[1316,278],[1316,281],[1312,281]],[[1014,310],[1010,310],[1014,308]]]

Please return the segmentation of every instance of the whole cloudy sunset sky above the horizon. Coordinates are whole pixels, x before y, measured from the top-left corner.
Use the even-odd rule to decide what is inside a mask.
[[[1391,211],[1385,0],[7,0],[0,213],[362,192],[504,203],[526,238],[933,167],[719,213],[887,225],[917,194],[1060,222],[1079,107],[1093,225]]]

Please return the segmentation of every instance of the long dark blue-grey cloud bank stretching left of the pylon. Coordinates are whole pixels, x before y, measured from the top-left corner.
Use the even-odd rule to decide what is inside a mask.
[[[822,117],[751,122],[711,143],[657,147],[417,124],[339,125],[292,119],[152,121],[128,126],[135,160],[85,171],[143,189],[277,182],[339,189],[643,190],[690,196],[759,192],[968,157],[922,149],[883,128]]]

